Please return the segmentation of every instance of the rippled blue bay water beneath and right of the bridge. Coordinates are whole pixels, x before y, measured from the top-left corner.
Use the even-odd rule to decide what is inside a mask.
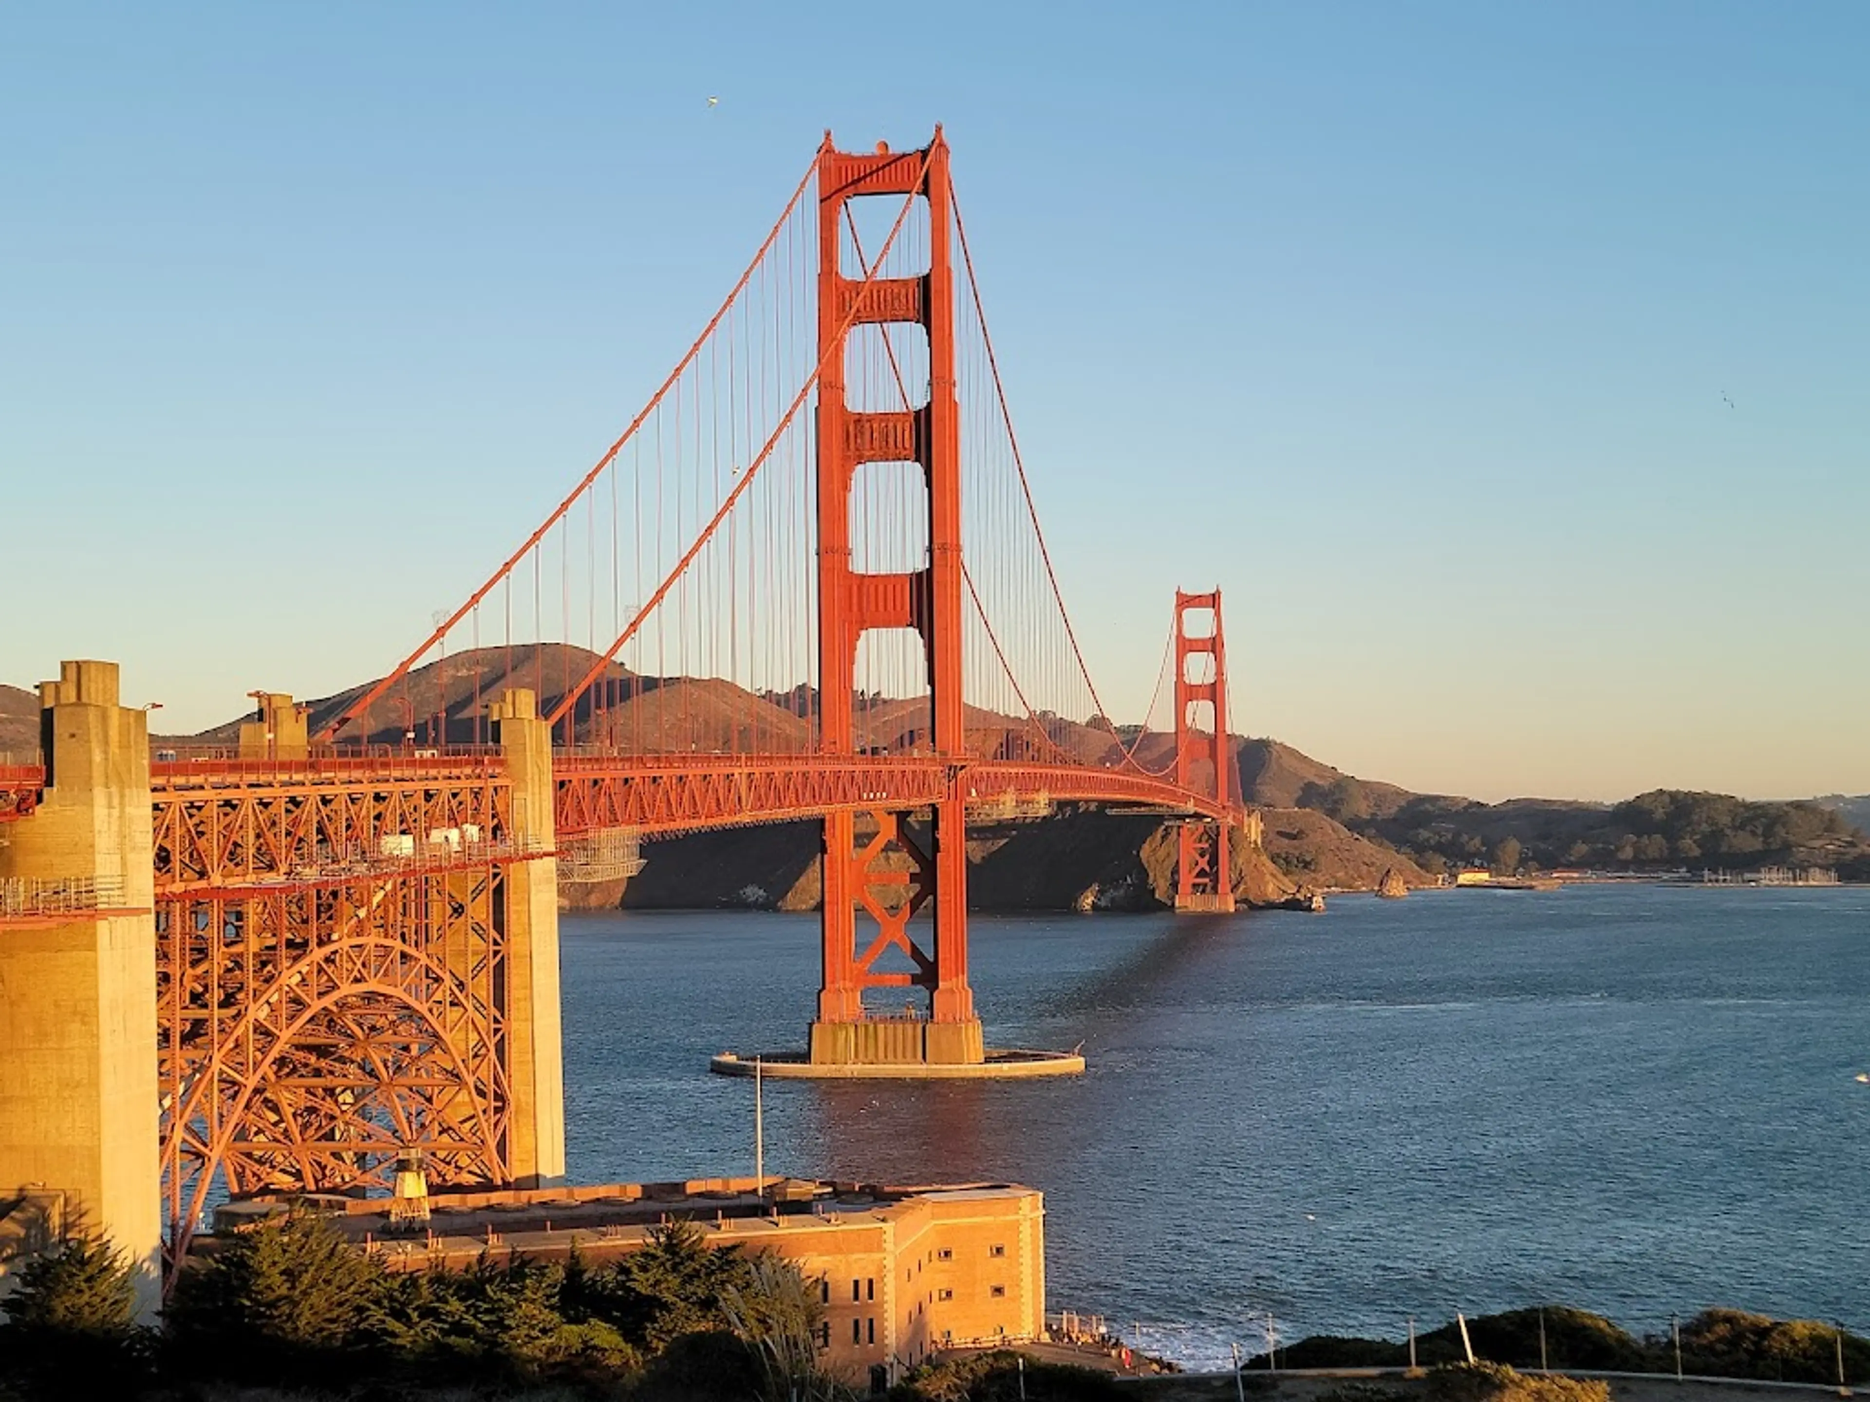
[[[1870,890],[976,916],[989,1045],[1081,1079],[767,1084],[767,1166],[1045,1191],[1051,1309],[1189,1363],[1533,1303],[1870,1331]],[[567,916],[576,1180],[752,1172],[813,916]]]

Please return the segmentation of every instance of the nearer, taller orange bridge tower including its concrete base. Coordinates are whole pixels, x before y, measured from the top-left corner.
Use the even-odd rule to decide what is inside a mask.
[[[914,628],[928,660],[929,742],[956,761],[948,796],[926,834],[909,813],[836,813],[825,819],[825,978],[812,1060],[821,1064],[985,1060],[974,991],[967,981],[967,813],[959,789],[961,710],[961,434],[956,400],[954,264],[948,144],[941,127],[926,151],[840,151],[830,133],[817,157],[819,193],[819,398],[817,398],[817,608],[819,746],[855,753],[856,649],[873,628]],[[868,290],[842,269],[847,204],[858,196],[920,196],[928,206],[928,271],[877,277]],[[877,250],[871,250],[873,256]],[[929,398],[886,413],[849,408],[845,344],[860,325],[909,323],[928,333]],[[928,565],[901,574],[853,570],[851,497],[864,464],[916,464],[928,490]],[[862,832],[862,839],[860,839]],[[907,869],[905,869],[907,867]],[[933,905],[933,950],[909,920]],[[858,946],[856,910],[875,925]],[[913,972],[881,970],[896,951]],[[901,963],[901,959],[898,959]],[[928,1015],[866,1017],[864,991],[918,987]]]

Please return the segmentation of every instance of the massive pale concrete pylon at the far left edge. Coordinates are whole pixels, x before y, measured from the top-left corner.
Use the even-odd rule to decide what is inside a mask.
[[[39,686],[45,798],[0,828],[0,1292],[107,1237],[161,1295],[150,737],[114,662]],[[11,1256],[11,1260],[7,1260]]]

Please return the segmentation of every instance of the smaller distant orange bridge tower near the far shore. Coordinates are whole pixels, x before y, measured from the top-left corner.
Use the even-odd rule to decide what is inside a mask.
[[[1234,802],[1234,753],[1227,737],[1227,647],[1221,591],[1174,594],[1174,780]],[[1229,823],[1189,819],[1180,830],[1176,910],[1232,910]]]

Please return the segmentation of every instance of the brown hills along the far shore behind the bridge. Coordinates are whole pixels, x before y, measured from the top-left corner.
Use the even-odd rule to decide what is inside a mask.
[[[363,716],[374,744],[398,744],[411,727],[424,744],[484,738],[477,716],[507,686],[540,692],[548,708],[597,662],[568,645],[481,649],[419,667]],[[310,701],[312,725],[337,718],[374,682]],[[754,694],[720,679],[643,677],[611,664],[600,686],[574,712],[580,742],[608,737],[643,751],[800,750],[808,742],[817,695]],[[856,742],[898,750],[926,725],[926,703],[866,699],[856,708]],[[234,744],[241,718],[193,737]],[[985,753],[1030,738],[1030,722],[971,707],[969,742]],[[598,731],[606,733],[598,733]],[[1045,718],[1049,738],[1077,763],[1116,755],[1103,727]],[[355,733],[355,731],[352,731]],[[39,746],[34,692],[0,686],[0,753],[26,757]],[[1502,869],[1597,867],[1618,871],[1724,871],[1763,866],[1831,867],[1848,880],[1870,880],[1870,796],[1750,802],[1730,794],[1655,791],[1621,804],[1565,798],[1511,798],[1481,804],[1459,794],[1419,794],[1395,783],[1361,780],[1272,738],[1234,740],[1242,800],[1266,824],[1268,869],[1251,877],[1253,899],[1275,901],[1298,886],[1374,890],[1386,869],[1406,884],[1431,884],[1466,866]],[[1150,735],[1137,757],[1150,766],[1172,759],[1172,740]],[[976,894],[997,908],[1060,908],[1085,903],[1133,908],[1159,905],[1165,873],[1161,824],[1088,819],[1064,806],[1051,819],[997,830],[971,843]],[[797,828],[797,832],[793,832]],[[782,824],[763,834],[696,834],[656,843],[658,867],[626,903],[785,905],[817,901],[813,824]],[[1034,875],[1043,873],[1043,875]],[[615,901],[617,892],[597,892]]]

